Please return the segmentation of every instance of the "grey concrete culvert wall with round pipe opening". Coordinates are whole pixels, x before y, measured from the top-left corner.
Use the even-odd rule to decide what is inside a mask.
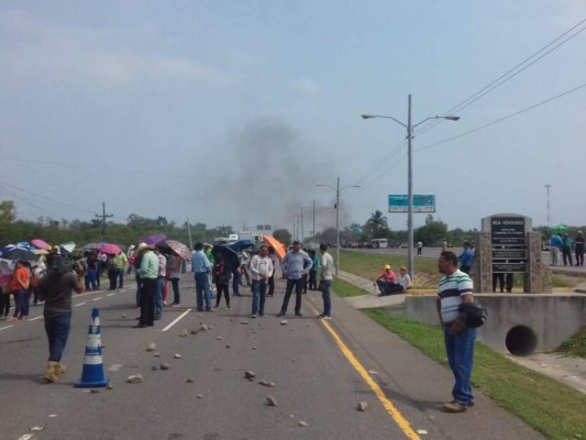
[[[478,339],[500,352],[506,352],[506,337],[515,326],[526,326],[537,336],[535,351],[556,349],[580,328],[586,326],[586,295],[475,294],[475,302],[488,312]],[[439,323],[435,295],[406,295],[405,312],[427,324]]]

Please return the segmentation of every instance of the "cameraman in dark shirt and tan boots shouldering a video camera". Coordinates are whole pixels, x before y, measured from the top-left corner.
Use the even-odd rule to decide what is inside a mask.
[[[56,382],[57,376],[66,371],[61,357],[71,329],[71,295],[73,291],[83,292],[85,271],[83,265],[72,264],[66,255],[50,254],[47,262],[49,271],[39,281],[39,299],[45,301],[43,316],[49,340],[45,379]]]

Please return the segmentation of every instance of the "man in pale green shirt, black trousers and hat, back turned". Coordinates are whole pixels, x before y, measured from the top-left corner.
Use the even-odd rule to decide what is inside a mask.
[[[146,243],[138,245],[138,255],[141,257],[141,267],[137,270],[141,283],[141,316],[135,329],[144,329],[155,325],[155,293],[156,279],[159,275],[159,258],[152,251],[152,246]]]

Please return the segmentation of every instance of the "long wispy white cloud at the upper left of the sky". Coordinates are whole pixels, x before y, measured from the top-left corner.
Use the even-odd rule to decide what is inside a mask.
[[[111,32],[59,28],[19,11],[0,12],[0,35],[8,37],[0,43],[0,72],[15,77],[42,74],[117,84],[141,79],[185,80],[208,86],[233,86],[243,80],[238,72],[225,72],[199,60],[125,47]]]

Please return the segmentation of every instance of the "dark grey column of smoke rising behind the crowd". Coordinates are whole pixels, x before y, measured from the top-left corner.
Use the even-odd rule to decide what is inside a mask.
[[[316,210],[316,231],[335,226],[333,191],[317,187],[316,182],[335,186],[336,172],[331,161],[320,154],[298,129],[278,118],[262,118],[247,124],[230,138],[234,174],[241,185],[235,188],[233,207],[250,230],[257,224],[287,228],[304,209],[305,236],[311,236],[312,203],[329,210]],[[349,223],[349,215],[340,204],[340,227]],[[234,225],[239,230],[242,225]]]

